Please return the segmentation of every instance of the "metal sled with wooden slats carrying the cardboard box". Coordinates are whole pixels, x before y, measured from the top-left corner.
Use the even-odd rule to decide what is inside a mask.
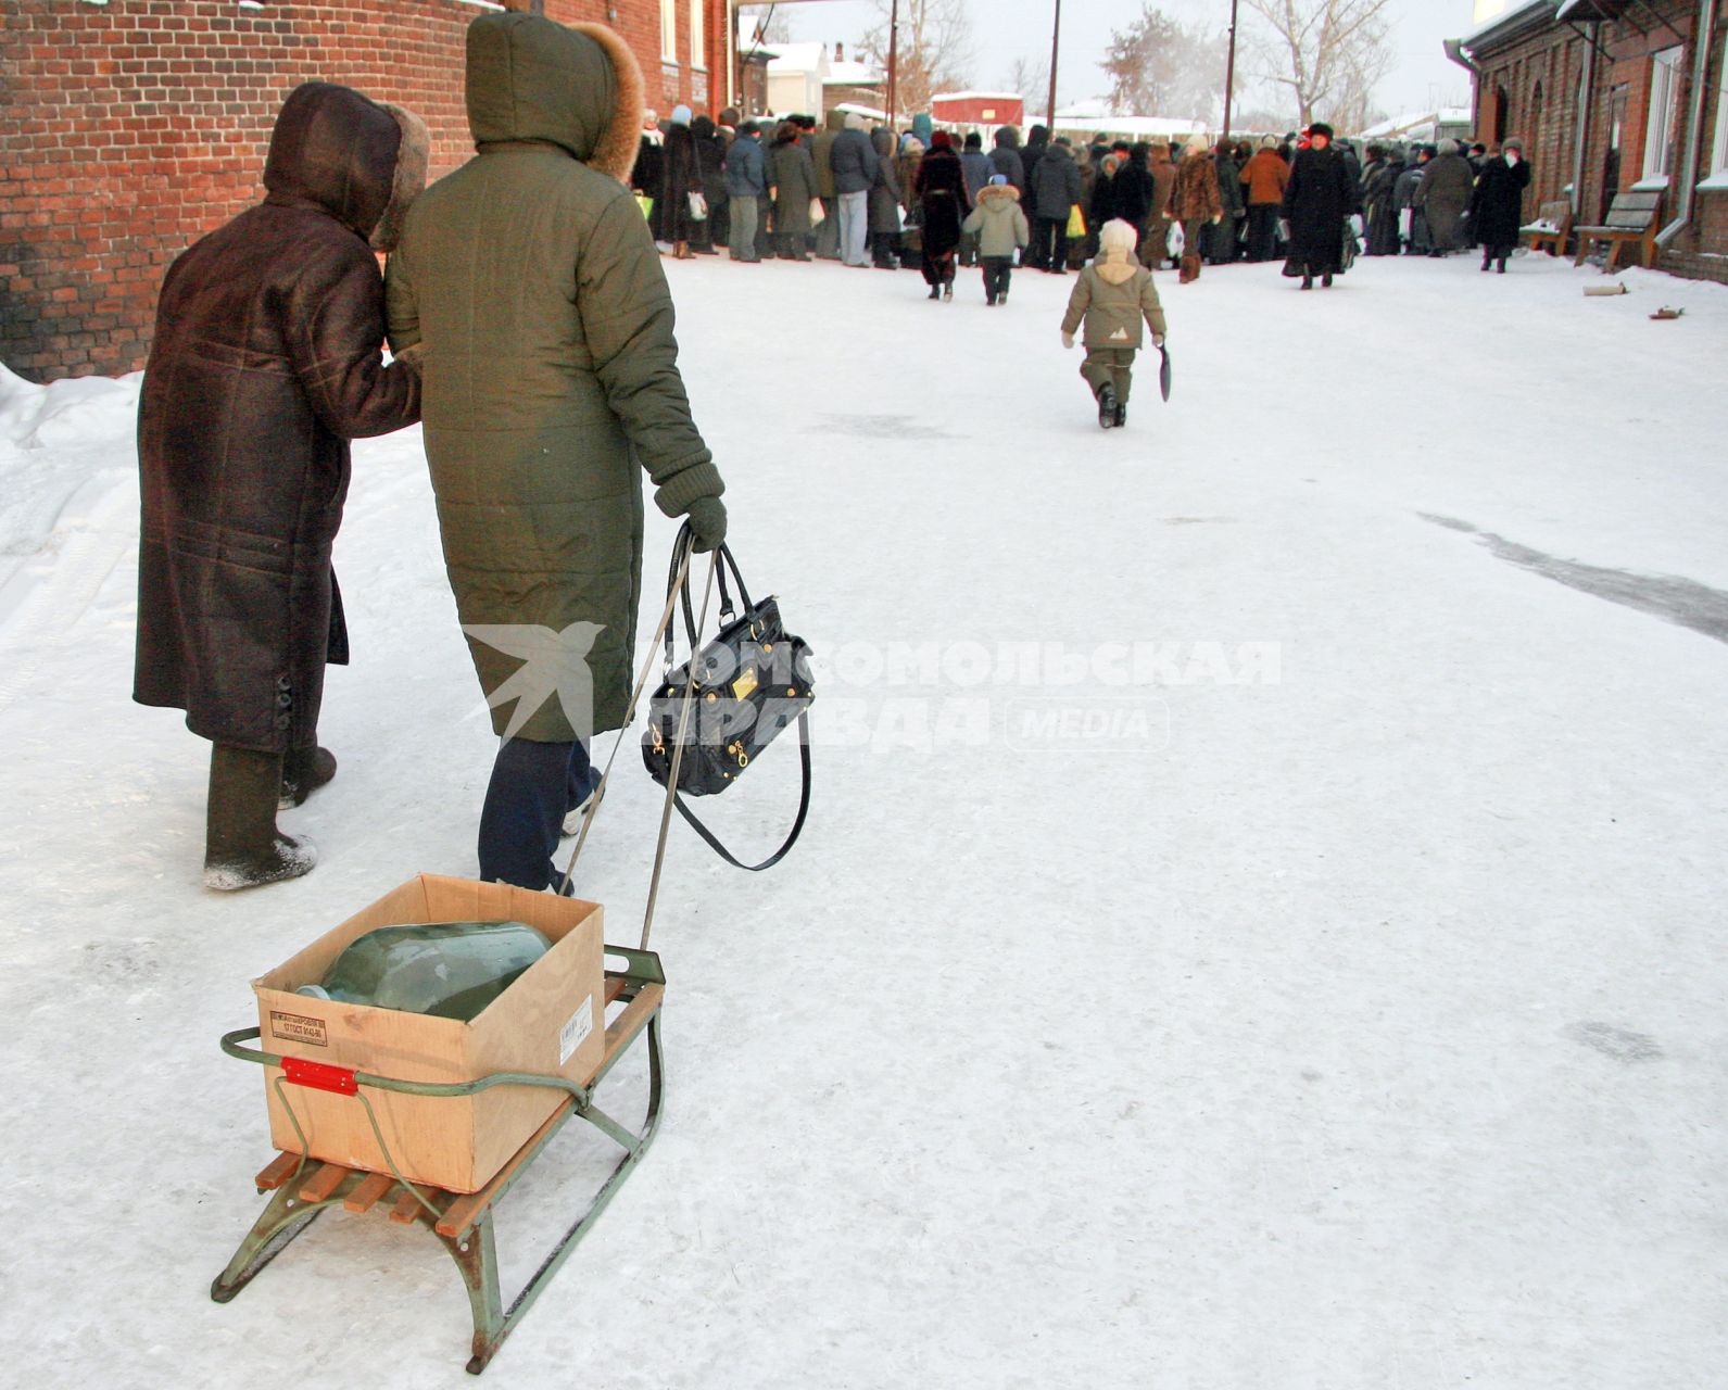
[[[244,1046],[259,1036],[256,1027],[228,1033],[221,1039],[221,1048],[230,1057],[242,1062],[259,1062],[266,1067],[282,1067],[287,1060],[285,1076],[278,1083],[311,1086],[314,1090],[353,1095],[366,1105],[365,1090],[403,1091],[420,1096],[463,1096],[482,1091],[489,1086],[555,1086],[567,1091],[567,1098],[522,1148],[511,1157],[480,1191],[451,1193],[406,1181],[396,1172],[394,1160],[385,1153],[391,1172],[372,1172],[368,1169],[342,1167],[340,1164],[321,1164],[304,1153],[276,1153],[276,1157],[257,1174],[257,1190],[273,1193],[263,1216],[252,1224],[240,1248],[235,1250],[228,1267],[216,1276],[211,1285],[211,1298],[226,1304],[245,1288],[257,1273],[270,1264],[282,1250],[301,1235],[318,1217],[325,1207],[340,1205],[351,1212],[365,1212],[380,1202],[389,1204],[391,1221],[408,1224],[425,1224],[449,1250],[451,1259],[461,1271],[463,1285],[468,1288],[468,1304],[473,1311],[473,1354],[468,1357],[468,1374],[480,1374],[487,1362],[498,1354],[505,1338],[539,1297],[558,1267],[569,1259],[575,1243],[588,1235],[589,1228],[613,1198],[624,1179],[629,1178],[638,1160],[653,1141],[655,1126],[660,1119],[662,1096],[662,1060],[660,1060],[660,1003],[665,995],[665,974],[660,969],[660,957],[653,951],[624,950],[607,946],[612,957],[626,960],[624,970],[607,972],[607,1005],[624,1001],[624,1012],[607,1026],[607,1050],[594,1069],[594,1074],[581,1086],[562,1077],[522,1076],[505,1072],[486,1076],[479,1081],[458,1084],[429,1084],[418,1081],[396,1081],[392,1077],[372,1076],[347,1067],[327,1067],[320,1064],[295,1065],[294,1058],[282,1058],[268,1052]],[[612,1071],[613,1064],[634,1045],[638,1038],[648,1034],[648,1114],[639,1131],[626,1129],[594,1105],[594,1090]],[[287,1096],[283,1095],[283,1100]],[[290,1107],[292,1119],[292,1107]],[[498,1286],[498,1250],[492,1236],[492,1209],[506,1191],[527,1171],[527,1166],[541,1153],[570,1119],[579,1117],[593,1124],[624,1148],[624,1157],[594,1195],[588,1210],[570,1226],[541,1260],[527,1286],[517,1293],[508,1307]],[[295,1128],[297,1121],[295,1121]],[[304,1136],[302,1148],[304,1148]]]

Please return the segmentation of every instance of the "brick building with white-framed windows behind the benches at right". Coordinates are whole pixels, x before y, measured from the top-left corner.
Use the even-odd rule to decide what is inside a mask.
[[[1529,205],[1661,192],[1657,264],[1728,281],[1728,0],[1522,0],[1448,45],[1477,138],[1529,142]]]

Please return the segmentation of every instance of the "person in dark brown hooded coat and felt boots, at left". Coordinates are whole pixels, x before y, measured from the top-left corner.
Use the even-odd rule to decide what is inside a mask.
[[[138,402],[143,502],[133,699],[209,739],[204,882],[294,879],[316,851],[276,829],[335,774],[318,748],[325,663],[347,661],[330,549],[349,440],[420,418],[420,371],[384,364],[377,249],[425,185],[418,119],[347,86],[282,107],[264,202],[162,281]]]

